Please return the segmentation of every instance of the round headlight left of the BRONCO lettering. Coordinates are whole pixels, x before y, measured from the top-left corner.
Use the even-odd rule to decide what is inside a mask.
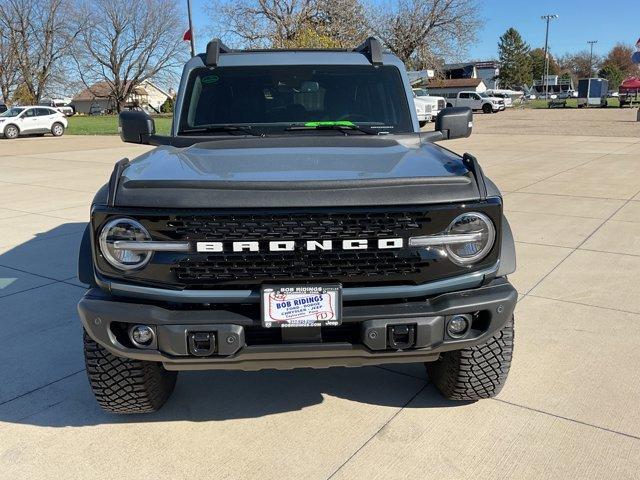
[[[151,260],[152,252],[116,248],[116,242],[150,241],[149,232],[135,220],[118,218],[107,223],[100,234],[100,251],[119,270],[135,270]]]

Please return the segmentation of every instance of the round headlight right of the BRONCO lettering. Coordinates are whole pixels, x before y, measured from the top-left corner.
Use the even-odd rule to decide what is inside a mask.
[[[486,257],[496,240],[496,229],[489,217],[482,213],[463,213],[449,228],[448,235],[473,235],[473,240],[446,245],[449,258],[458,265],[471,265]],[[475,234],[475,235],[474,235]]]

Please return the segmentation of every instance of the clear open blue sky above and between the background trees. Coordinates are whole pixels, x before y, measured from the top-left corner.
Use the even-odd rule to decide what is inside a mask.
[[[181,0],[185,3],[186,0]],[[205,5],[210,0],[192,0],[198,49],[203,51],[210,32],[210,20]],[[375,2],[375,0],[373,0]],[[478,41],[468,48],[468,59],[486,60],[497,57],[498,38],[509,27],[520,31],[532,47],[544,46],[546,13],[560,16],[553,20],[549,43],[556,55],[587,49],[588,40],[598,40],[594,51],[606,54],[617,42],[634,44],[640,37],[640,5],[637,0],[480,0],[484,28]],[[186,30],[186,22],[185,22]]]

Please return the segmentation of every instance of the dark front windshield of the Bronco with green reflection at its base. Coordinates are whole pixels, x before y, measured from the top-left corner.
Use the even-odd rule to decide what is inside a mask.
[[[298,130],[289,127],[338,122],[360,128],[349,134],[412,132],[400,71],[369,65],[198,69],[186,89],[179,134],[233,125],[254,133],[295,134]]]

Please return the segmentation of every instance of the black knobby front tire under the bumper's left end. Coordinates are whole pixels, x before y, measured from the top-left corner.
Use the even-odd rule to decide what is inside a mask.
[[[91,390],[103,410],[150,413],[171,396],[177,372],[162,364],[116,357],[84,334],[84,359]]]

